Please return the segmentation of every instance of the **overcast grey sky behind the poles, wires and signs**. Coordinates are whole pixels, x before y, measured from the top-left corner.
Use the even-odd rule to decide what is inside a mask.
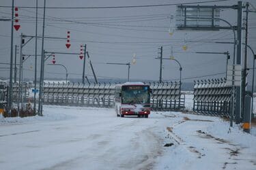
[[[154,5],[165,3],[197,2],[199,0],[167,1],[167,0],[46,0],[46,7],[98,7],[124,5]],[[200,0],[201,1],[201,0]],[[38,1],[40,7],[43,0]],[[248,1],[256,7],[256,1]],[[236,0],[217,3],[203,3],[203,5],[236,5]],[[0,6],[12,5],[10,0],[1,0]],[[15,1],[16,6],[35,6],[35,0]],[[196,5],[196,4],[195,4]],[[91,61],[98,78],[127,78],[127,67],[123,65],[106,65],[105,63],[131,63],[136,54],[136,64],[131,65],[130,78],[137,80],[159,80],[160,61],[156,60],[158,48],[163,46],[163,56],[171,55],[180,61],[184,82],[191,82],[194,77],[211,75],[204,78],[225,77],[225,55],[195,54],[196,51],[226,52],[233,55],[232,44],[211,44],[202,41],[233,41],[231,30],[224,31],[175,31],[169,35],[171,14],[175,14],[175,5],[161,7],[141,7],[122,9],[46,9],[45,35],[51,37],[66,37],[70,31],[71,47],[67,49],[66,40],[45,39],[44,49],[51,52],[80,52],[80,45],[87,44]],[[253,7],[250,7],[251,10]],[[38,35],[42,35],[42,14],[38,10]],[[19,8],[21,28],[14,31],[14,45],[20,44],[20,33],[35,35],[35,9]],[[222,10],[221,18],[236,25],[236,10]],[[11,8],[0,7],[0,18],[11,18]],[[58,20],[58,21],[57,21]],[[70,22],[72,20],[73,22]],[[77,22],[86,22],[79,24]],[[222,26],[226,26],[221,22]],[[10,35],[11,22],[0,21],[0,63],[10,62]],[[188,50],[182,50],[184,37],[187,34]],[[249,14],[248,44],[256,50],[256,13]],[[38,54],[41,52],[41,39],[38,39]],[[35,54],[35,40],[31,40],[23,49],[23,54]],[[83,61],[79,55],[55,55],[56,63],[68,68],[69,78],[82,78]],[[40,61],[40,58],[39,58]],[[47,65],[52,58],[46,61],[45,79],[65,78],[65,70],[59,66]],[[252,67],[252,55],[248,52],[249,67]],[[229,63],[232,63],[230,60]],[[0,65],[0,78],[8,78],[8,65]],[[24,77],[33,80],[34,58],[31,56],[24,64]],[[39,77],[40,63],[38,63]],[[251,71],[249,72],[251,73]],[[92,78],[91,69],[87,63],[86,74]],[[216,75],[216,76],[212,76]],[[180,77],[179,67],[174,61],[163,61],[163,80],[175,80]]]

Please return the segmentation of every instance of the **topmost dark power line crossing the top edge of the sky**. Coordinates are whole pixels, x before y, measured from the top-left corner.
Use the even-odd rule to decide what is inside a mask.
[[[52,10],[93,10],[93,9],[121,9],[121,8],[139,8],[139,7],[162,7],[162,6],[173,6],[173,5],[190,5],[197,3],[214,3],[214,2],[222,2],[222,1],[230,1],[230,0],[215,0],[215,1],[198,1],[198,2],[188,2],[188,3],[167,3],[167,4],[156,4],[156,5],[127,5],[127,6],[102,6],[102,7],[46,7],[46,9]],[[0,7],[12,7],[8,5],[0,5]],[[17,6],[20,8],[27,9],[35,9],[35,7],[31,6]],[[44,7],[38,7],[44,8]]]

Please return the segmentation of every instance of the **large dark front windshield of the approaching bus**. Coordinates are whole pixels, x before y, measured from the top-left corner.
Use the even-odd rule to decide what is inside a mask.
[[[149,86],[123,86],[122,103],[147,104],[150,103]]]

